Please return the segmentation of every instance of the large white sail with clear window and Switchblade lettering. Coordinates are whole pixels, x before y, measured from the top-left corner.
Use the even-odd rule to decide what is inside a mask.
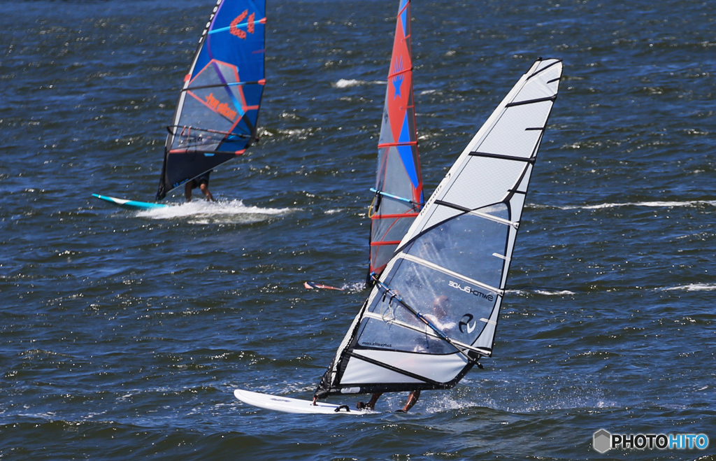
[[[315,396],[448,389],[492,354],[528,183],[562,63],[539,59],[415,218]]]

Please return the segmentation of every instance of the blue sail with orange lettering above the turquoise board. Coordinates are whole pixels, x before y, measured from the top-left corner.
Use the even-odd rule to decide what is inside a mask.
[[[157,199],[233,159],[256,140],[266,0],[219,0],[184,79]]]

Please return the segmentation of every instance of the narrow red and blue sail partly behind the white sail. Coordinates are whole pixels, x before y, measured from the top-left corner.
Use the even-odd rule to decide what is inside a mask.
[[[372,205],[368,281],[379,275],[424,203],[412,92],[410,0],[398,9]]]

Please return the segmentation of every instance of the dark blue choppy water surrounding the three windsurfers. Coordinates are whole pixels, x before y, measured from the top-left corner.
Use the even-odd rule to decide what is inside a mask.
[[[308,398],[367,296],[397,3],[270,1],[261,144],[218,205],[149,213],[91,194],[153,198],[213,2],[0,3],[0,459],[716,460],[707,1],[415,0],[426,193],[534,59],[565,63],[494,358],[407,415],[233,397]],[[599,455],[599,429],[712,442]]]

